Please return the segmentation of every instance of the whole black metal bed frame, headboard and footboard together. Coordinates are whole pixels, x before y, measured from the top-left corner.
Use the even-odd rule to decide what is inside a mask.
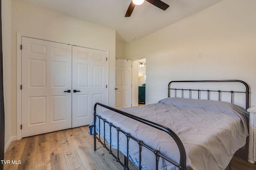
[[[171,85],[173,83],[193,83],[193,82],[202,82],[202,83],[203,82],[239,82],[239,83],[244,84],[246,90],[245,91],[223,91],[223,90],[200,90],[200,89],[195,90],[195,89],[171,88]],[[246,96],[246,99],[245,99],[245,101],[246,101],[246,109],[249,108],[249,86],[248,86],[248,84],[246,82],[241,81],[241,80],[191,80],[191,81],[188,80],[188,81],[171,81],[168,84],[168,97],[170,97],[171,90],[175,91],[175,97],[176,97],[177,91],[180,90],[182,92],[182,96],[181,96],[182,98],[184,98],[184,91],[189,91],[189,98],[192,98],[192,91],[198,91],[198,99],[200,99],[200,92],[202,92],[202,91],[208,92],[208,100],[210,100],[210,92],[218,92],[218,94],[219,94],[219,101],[221,101],[221,94],[222,93],[230,93],[231,94],[231,103],[234,102],[234,99],[233,99],[234,98],[234,93],[244,93],[245,96]],[[102,118],[101,116],[97,115],[97,113],[96,113],[96,106],[98,106],[98,105],[168,133],[168,135],[170,135],[174,139],[175,143],[178,146],[178,150],[180,152],[180,162],[179,163],[175,162],[171,158],[168,158],[167,156],[162,154],[160,152],[160,150],[156,150],[156,149],[146,145],[140,139],[136,139],[135,137],[133,137],[129,133],[127,133],[127,132],[123,131],[122,129],[120,129],[120,127],[117,127],[116,125],[113,125],[111,122],[109,122],[106,119]],[[99,126],[100,126],[100,120],[102,120],[104,122],[103,123],[103,126],[104,126],[104,136],[102,137],[103,138],[103,142],[102,142],[102,139],[100,137],[100,134],[101,134],[100,133],[100,127],[99,127],[99,134],[98,134],[98,136],[97,136],[97,133],[96,133],[96,118],[97,117],[98,117],[98,121],[99,121]],[[106,126],[106,123],[110,126],[110,141],[109,141],[110,145],[109,146],[106,145],[106,141],[105,141],[105,126]],[[117,131],[117,146],[118,146],[118,148],[117,148],[117,153],[116,154],[114,154],[112,152],[112,145],[111,145],[112,144],[112,138],[111,138],[111,129],[112,128],[116,129],[116,131]],[[126,155],[124,155],[124,161],[123,162],[120,160],[120,157],[119,157],[119,133],[123,133],[126,136],[126,140],[127,140]],[[113,107],[106,106],[106,105],[101,104],[101,103],[96,103],[94,105],[94,133],[93,134],[94,134],[93,135],[94,136],[94,151],[96,151],[96,140],[98,140],[98,142],[100,142],[103,145],[103,147],[106,148],[110,154],[112,154],[112,156],[116,159],[116,161],[119,162],[124,167],[124,170],[129,170],[128,154],[129,154],[129,140],[130,139],[132,139],[132,140],[134,140],[134,141],[136,141],[138,143],[138,147],[139,147],[139,170],[141,170],[141,168],[142,168],[142,164],[141,164],[141,156],[142,156],[141,155],[141,151],[142,151],[142,147],[145,147],[146,149],[152,151],[155,154],[155,156],[156,156],[156,159],[155,159],[155,161],[156,161],[156,170],[158,170],[158,160],[159,160],[160,157],[164,158],[168,162],[174,164],[174,166],[178,167],[179,170],[187,170],[187,167],[186,167],[186,151],[184,149],[184,145],[182,144],[182,142],[181,142],[180,138],[178,137],[178,135],[176,135],[176,133],[174,133],[168,127],[162,126],[162,125],[154,123],[152,121],[148,121],[146,119],[142,119],[142,118],[137,117],[135,115],[132,115],[130,113],[126,113],[124,111],[115,109]],[[229,163],[228,167],[229,167],[229,170],[231,170],[231,163]],[[152,168],[152,167],[150,167],[150,168]]]

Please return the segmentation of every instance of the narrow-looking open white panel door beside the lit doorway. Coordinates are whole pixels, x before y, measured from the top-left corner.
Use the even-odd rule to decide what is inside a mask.
[[[116,59],[115,107],[132,106],[132,61]]]

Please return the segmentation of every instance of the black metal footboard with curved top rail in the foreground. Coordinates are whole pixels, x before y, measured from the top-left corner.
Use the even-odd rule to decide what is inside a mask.
[[[102,107],[105,107],[107,109],[110,109],[112,111],[115,111],[116,113],[120,113],[124,116],[127,116],[127,117],[130,117],[136,121],[139,121],[141,123],[144,123],[146,125],[149,125],[151,127],[154,127],[156,129],[159,129],[161,131],[164,131],[166,133],[168,133],[173,139],[174,141],[176,142],[177,146],[178,146],[178,149],[179,149],[179,152],[180,152],[180,162],[177,163],[175,162],[174,160],[172,160],[171,158],[168,158],[167,156],[165,156],[164,154],[162,154],[159,150],[156,150],[156,149],[153,149],[152,147],[146,145],[143,141],[141,141],[140,139],[136,139],[134,137],[132,137],[129,133],[123,131],[122,129],[120,129],[120,127],[117,127],[116,125],[113,125],[111,122],[108,122],[106,121],[106,119],[103,119],[102,117],[100,117],[99,115],[97,115],[96,113],[96,106],[99,105],[99,106],[102,106]],[[102,120],[104,123],[103,123],[103,126],[104,126],[104,135],[103,135],[103,138],[104,138],[104,141],[102,142],[101,141],[101,138],[100,138],[100,132],[98,134],[98,137],[96,135],[96,117],[98,117],[99,119],[99,126],[100,126],[100,120]],[[105,123],[108,123],[108,125],[110,126],[110,148],[107,147],[106,143],[105,143]],[[113,154],[112,152],[112,148],[111,148],[111,143],[112,143],[112,139],[111,139],[111,128],[115,128],[116,131],[117,131],[117,155]],[[99,127],[99,131],[100,131],[100,127]],[[126,139],[127,139],[127,146],[126,146],[126,155],[124,155],[124,162],[122,162],[119,158],[119,133],[123,133],[125,136],[126,136]],[[110,106],[106,106],[104,104],[101,104],[101,103],[96,103],[94,105],[94,151],[96,150],[96,139],[98,139],[98,141],[103,145],[104,148],[106,148],[108,150],[108,152],[110,154],[112,154],[112,156],[114,156],[114,158],[116,159],[117,162],[119,162],[125,170],[128,170],[129,169],[129,166],[128,166],[128,154],[129,154],[129,140],[132,139],[134,141],[136,141],[138,143],[138,147],[139,147],[139,169],[141,170],[142,169],[142,163],[141,163],[141,160],[142,160],[142,154],[141,154],[141,151],[142,151],[142,147],[145,147],[146,149],[152,151],[155,156],[156,156],[156,170],[158,170],[158,160],[159,158],[163,158],[165,160],[167,160],[168,162],[174,164],[174,166],[178,167],[179,170],[187,170],[187,167],[186,167],[186,151],[184,149],[184,145],[182,144],[180,138],[178,137],[178,135],[176,135],[171,129],[169,129],[168,127],[165,127],[165,126],[162,126],[162,125],[159,125],[157,123],[154,123],[152,121],[148,121],[146,119],[142,119],[140,117],[137,117],[135,115],[132,115],[132,114],[129,114],[129,113],[126,113],[124,111],[121,111],[121,110],[118,110],[118,109],[115,109],[113,107],[110,107]],[[149,167],[149,168],[153,168],[153,167]]]

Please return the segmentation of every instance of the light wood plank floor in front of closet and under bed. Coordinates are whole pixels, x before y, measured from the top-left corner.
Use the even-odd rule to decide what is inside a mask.
[[[97,150],[93,150],[93,137],[89,135],[88,126],[13,141],[4,160],[10,160],[10,164],[4,164],[5,170],[124,169],[98,141]],[[16,164],[11,161],[16,161]],[[131,162],[129,166],[130,170],[137,169]],[[232,170],[256,170],[256,164],[248,163],[246,158],[234,156]]]

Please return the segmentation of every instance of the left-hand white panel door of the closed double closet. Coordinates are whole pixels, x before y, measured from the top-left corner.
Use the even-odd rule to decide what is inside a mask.
[[[71,128],[72,46],[22,37],[21,53],[22,137]]]

